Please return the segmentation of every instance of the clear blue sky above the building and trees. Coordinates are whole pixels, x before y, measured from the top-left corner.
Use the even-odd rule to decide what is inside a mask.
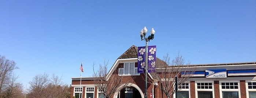
[[[156,31],[157,57],[180,52],[191,64],[256,61],[256,0],[1,0],[0,55],[14,60],[24,87],[37,74],[63,82],[92,76]],[[147,36],[150,33],[148,32]]]

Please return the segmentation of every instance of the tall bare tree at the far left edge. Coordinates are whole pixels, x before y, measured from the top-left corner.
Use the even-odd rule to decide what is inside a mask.
[[[0,98],[2,97],[2,88],[7,87],[7,81],[11,79],[14,69],[18,69],[16,63],[0,55]]]

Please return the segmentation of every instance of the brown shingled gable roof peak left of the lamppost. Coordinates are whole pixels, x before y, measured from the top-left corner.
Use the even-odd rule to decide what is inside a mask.
[[[132,45],[125,53],[123,53],[118,59],[138,58],[138,47]]]

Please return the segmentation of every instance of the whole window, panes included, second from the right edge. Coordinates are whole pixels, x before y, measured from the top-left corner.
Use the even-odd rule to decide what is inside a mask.
[[[220,96],[222,98],[239,98],[239,81],[220,81]]]

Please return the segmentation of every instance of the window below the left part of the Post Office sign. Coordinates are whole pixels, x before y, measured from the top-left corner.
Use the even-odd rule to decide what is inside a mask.
[[[197,98],[214,98],[213,81],[196,82]]]

